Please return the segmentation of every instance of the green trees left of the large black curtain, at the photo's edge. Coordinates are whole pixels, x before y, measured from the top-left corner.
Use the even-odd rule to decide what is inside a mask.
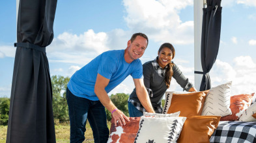
[[[8,124],[10,98],[0,98],[0,125]]]

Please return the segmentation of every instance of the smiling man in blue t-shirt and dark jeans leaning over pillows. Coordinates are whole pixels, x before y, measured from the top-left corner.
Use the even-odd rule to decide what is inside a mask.
[[[147,89],[143,83],[143,69],[139,58],[143,56],[149,39],[135,33],[125,50],[109,50],[94,58],[76,71],[68,82],[66,100],[70,117],[70,142],[85,140],[85,124],[88,118],[94,142],[107,142],[106,111],[124,126],[129,119],[111,102],[107,93],[117,87],[127,76],[134,79],[137,96],[147,112],[154,113]],[[125,121],[126,120],[126,121]]]

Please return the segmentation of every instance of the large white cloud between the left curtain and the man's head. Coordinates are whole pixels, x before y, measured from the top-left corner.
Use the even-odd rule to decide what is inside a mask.
[[[53,39],[46,52],[50,62],[85,65],[102,52],[125,49],[130,36],[131,32],[121,29],[98,33],[88,30],[79,36],[63,32]]]

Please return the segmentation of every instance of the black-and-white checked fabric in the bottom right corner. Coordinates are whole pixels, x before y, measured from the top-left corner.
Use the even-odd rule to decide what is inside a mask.
[[[220,121],[210,142],[256,142],[256,122]]]

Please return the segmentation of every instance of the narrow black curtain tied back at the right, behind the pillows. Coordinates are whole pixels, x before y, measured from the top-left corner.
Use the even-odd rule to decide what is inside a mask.
[[[208,72],[212,69],[216,61],[221,31],[221,0],[207,0],[207,8],[203,8],[203,25],[201,38],[201,64],[203,74],[200,91],[205,91],[211,88],[210,76]]]

